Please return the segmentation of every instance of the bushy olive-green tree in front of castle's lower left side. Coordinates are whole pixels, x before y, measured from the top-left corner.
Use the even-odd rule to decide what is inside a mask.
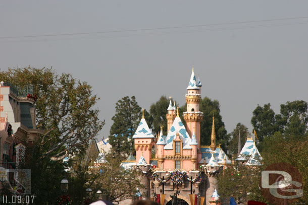
[[[101,174],[93,183],[94,191],[101,190],[107,193],[109,200],[114,203],[131,198],[137,192],[137,188],[144,188],[138,179],[138,170],[125,170],[121,167],[124,159],[125,157],[112,150],[106,155],[107,163],[97,167],[96,172],[92,171],[98,173],[98,170],[101,170]]]

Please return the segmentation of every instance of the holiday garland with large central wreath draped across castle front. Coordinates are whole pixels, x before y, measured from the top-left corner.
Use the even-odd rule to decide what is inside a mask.
[[[170,175],[168,176],[168,178],[165,179],[165,180],[162,180],[157,173],[153,173],[152,176],[150,177],[150,179],[151,180],[157,179],[159,182],[162,182],[162,183],[166,183],[167,181],[169,181],[171,179],[172,183],[174,183],[174,184],[181,184],[181,183],[183,183],[184,179],[187,179],[188,181],[193,182],[193,183],[196,182],[196,181],[199,181],[199,182],[203,181],[201,173],[199,173],[196,178],[190,179],[185,172],[183,173],[183,172],[180,172],[180,171],[171,172]]]

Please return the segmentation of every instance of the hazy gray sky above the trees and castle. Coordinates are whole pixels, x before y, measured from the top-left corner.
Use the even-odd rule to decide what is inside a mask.
[[[109,135],[115,103],[183,105],[191,67],[229,132],[256,105],[308,101],[307,1],[1,1],[0,68],[50,67],[87,81]],[[251,23],[237,23],[236,22]],[[256,21],[256,22],[255,22]],[[218,24],[218,25],[210,25]],[[83,35],[3,38],[185,27]],[[167,108],[166,108],[167,109]]]

